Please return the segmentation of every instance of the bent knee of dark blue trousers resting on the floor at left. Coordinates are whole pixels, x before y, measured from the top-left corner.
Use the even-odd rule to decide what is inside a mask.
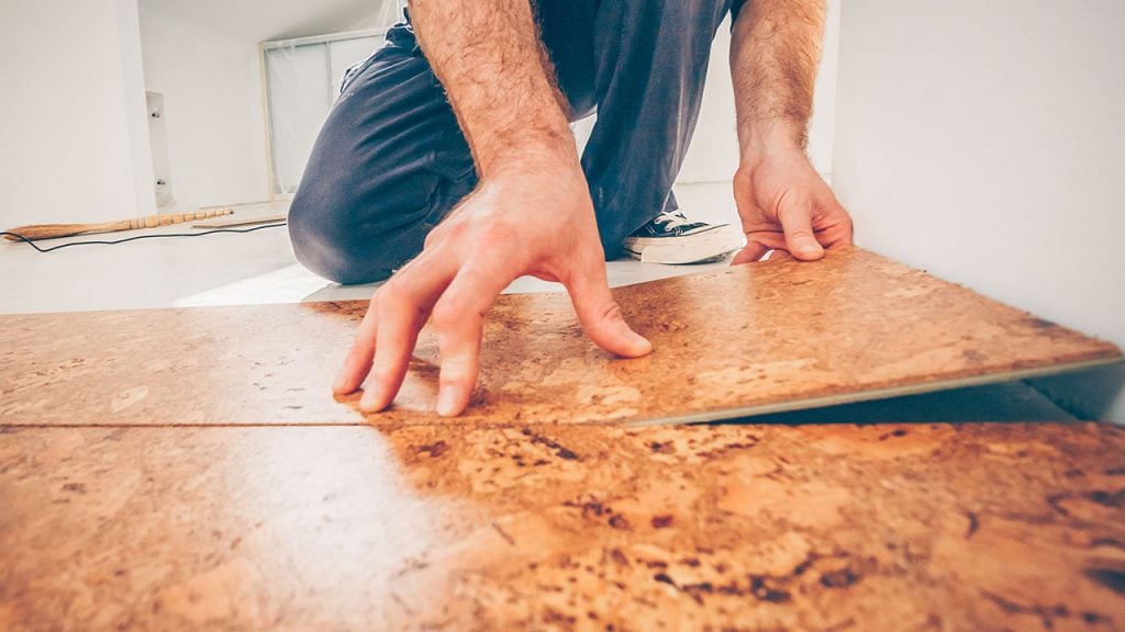
[[[289,210],[294,253],[340,283],[389,277],[475,184],[452,110],[398,26],[344,84]]]

